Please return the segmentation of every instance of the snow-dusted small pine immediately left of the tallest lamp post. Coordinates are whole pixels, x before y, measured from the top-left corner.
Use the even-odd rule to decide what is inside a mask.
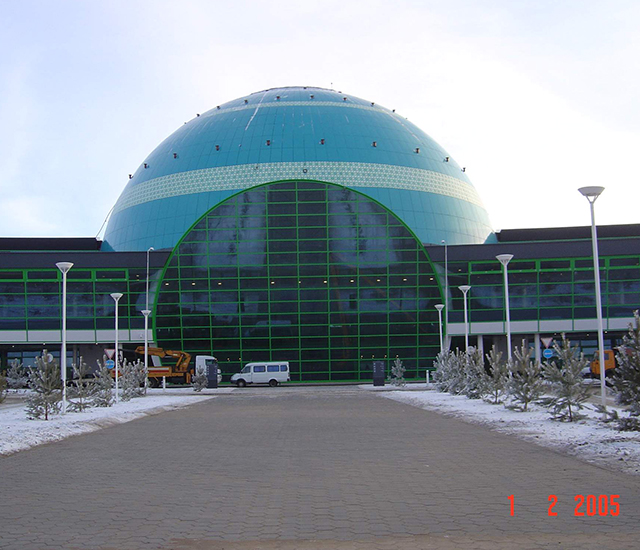
[[[545,397],[540,402],[551,407],[551,415],[556,420],[573,422],[583,417],[578,411],[584,408],[583,403],[589,397],[589,388],[582,378],[582,370],[589,362],[577,347],[571,347],[571,342],[564,334],[562,346],[555,343],[553,349],[560,361],[545,363],[542,374],[554,395]]]

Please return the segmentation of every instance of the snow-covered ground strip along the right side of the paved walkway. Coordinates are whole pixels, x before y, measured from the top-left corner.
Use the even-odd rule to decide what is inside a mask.
[[[425,384],[420,384],[425,388]],[[372,386],[369,386],[372,388]],[[468,422],[484,424],[499,432],[516,435],[539,445],[552,447],[582,460],[640,475],[640,433],[619,432],[598,420],[593,404],[577,422],[552,420],[548,409],[533,405],[530,411],[506,409],[480,399],[431,390],[384,391],[380,395],[422,409],[452,415]],[[411,391],[413,390],[413,391]]]

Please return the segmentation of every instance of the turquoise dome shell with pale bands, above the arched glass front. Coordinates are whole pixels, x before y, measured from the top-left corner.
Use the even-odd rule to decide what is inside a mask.
[[[422,130],[370,101],[291,87],[221,104],[171,134],[118,199],[104,249],[173,247],[232,194],[294,179],[365,193],[425,243],[478,243],[491,233],[462,168]]]

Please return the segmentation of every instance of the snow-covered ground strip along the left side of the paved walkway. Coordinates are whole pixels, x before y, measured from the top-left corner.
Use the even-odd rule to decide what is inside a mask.
[[[113,407],[93,407],[83,412],[56,414],[50,420],[30,420],[25,412],[25,392],[10,392],[0,404],[0,455],[24,451],[36,445],[59,441],[72,435],[94,432],[136,418],[179,409],[227,393],[226,389],[203,390],[191,388],[149,390],[144,397],[121,401]]]

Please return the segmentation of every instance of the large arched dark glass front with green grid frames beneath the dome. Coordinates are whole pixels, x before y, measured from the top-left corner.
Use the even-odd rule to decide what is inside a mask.
[[[287,181],[227,199],[176,246],[158,288],[159,345],[223,374],[289,361],[292,380],[370,380],[399,356],[421,378],[439,350],[440,290],[419,241],[344,187]]]

